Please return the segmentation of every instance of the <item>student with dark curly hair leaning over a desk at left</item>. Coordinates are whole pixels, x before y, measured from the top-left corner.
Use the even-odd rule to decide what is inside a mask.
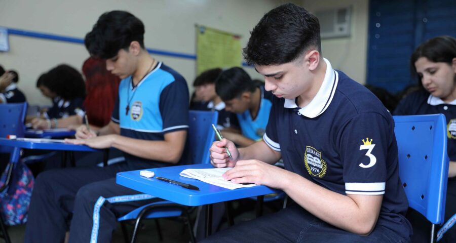
[[[52,107],[43,117],[31,120],[34,129],[68,128],[83,123],[86,86],[78,70],[66,64],[58,65],[42,74],[36,87],[52,99]]]

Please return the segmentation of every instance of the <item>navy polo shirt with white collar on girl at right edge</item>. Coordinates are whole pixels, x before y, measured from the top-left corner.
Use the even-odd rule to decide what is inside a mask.
[[[444,114],[446,117],[447,152],[451,161],[456,161],[456,100],[445,103],[426,91],[415,91],[402,99],[394,115]]]

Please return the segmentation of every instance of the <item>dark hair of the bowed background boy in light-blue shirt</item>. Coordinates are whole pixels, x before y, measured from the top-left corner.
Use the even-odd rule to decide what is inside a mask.
[[[256,87],[249,74],[240,67],[232,67],[221,72],[215,80],[215,93],[222,100],[238,98],[246,91],[254,92]]]

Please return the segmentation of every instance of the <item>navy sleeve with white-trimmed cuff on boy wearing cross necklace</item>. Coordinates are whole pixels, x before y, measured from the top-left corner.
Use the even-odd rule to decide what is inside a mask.
[[[188,88],[185,81],[174,80],[160,95],[163,133],[188,129]]]

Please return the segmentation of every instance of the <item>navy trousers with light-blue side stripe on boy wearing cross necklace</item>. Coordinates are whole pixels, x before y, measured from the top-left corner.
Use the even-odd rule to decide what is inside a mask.
[[[127,163],[106,168],[45,171],[35,181],[25,242],[111,242],[117,218],[160,200],[116,184],[116,173],[139,170]]]

